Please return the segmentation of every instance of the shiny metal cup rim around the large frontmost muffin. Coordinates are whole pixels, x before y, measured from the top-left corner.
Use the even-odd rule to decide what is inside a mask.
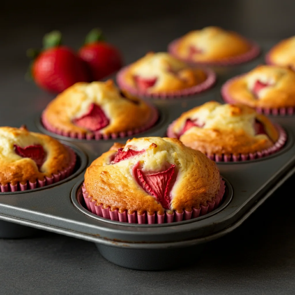
[[[78,209],[80,212],[82,212],[83,214],[96,219],[97,221],[103,221],[103,222],[107,222],[107,223],[111,223],[114,225],[123,225],[123,226],[132,226],[132,227],[166,227],[166,226],[175,226],[175,225],[180,225],[180,224],[187,224],[187,223],[192,223],[192,222],[197,222],[199,220],[211,217],[214,214],[217,214],[218,212],[222,211],[225,207],[228,206],[228,204],[230,204],[230,202],[232,201],[233,198],[233,189],[232,189],[232,185],[230,184],[230,182],[224,178],[222,176],[222,179],[225,182],[225,192],[221,201],[221,204],[219,204],[219,206],[212,210],[209,213],[206,213],[202,216],[196,217],[196,218],[191,218],[191,219],[187,219],[187,220],[182,220],[182,221],[177,221],[177,222],[170,222],[170,223],[155,223],[155,224],[138,224],[138,223],[129,223],[129,222],[121,222],[121,221],[114,221],[111,219],[107,219],[104,217],[100,217],[90,211],[88,211],[88,209],[86,208],[86,204],[83,198],[83,194],[82,194],[82,186],[83,186],[83,181],[79,181],[78,183],[75,184],[75,186],[73,187],[72,191],[71,191],[71,202],[73,204],[74,207],[76,207],[76,209]]]

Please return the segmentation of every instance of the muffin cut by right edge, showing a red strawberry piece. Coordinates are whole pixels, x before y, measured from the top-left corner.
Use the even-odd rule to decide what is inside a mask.
[[[225,101],[256,109],[295,107],[295,73],[288,68],[260,65],[230,79],[222,87]]]

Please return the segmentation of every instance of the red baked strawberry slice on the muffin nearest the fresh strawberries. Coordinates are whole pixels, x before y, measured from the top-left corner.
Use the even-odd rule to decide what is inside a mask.
[[[109,119],[97,104],[91,104],[87,114],[73,119],[73,123],[89,131],[100,130],[109,125]]]

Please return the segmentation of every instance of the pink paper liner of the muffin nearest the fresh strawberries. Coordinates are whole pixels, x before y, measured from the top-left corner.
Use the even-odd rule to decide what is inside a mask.
[[[58,135],[65,136],[65,137],[86,139],[86,140],[108,140],[108,139],[115,139],[115,138],[119,138],[119,137],[121,137],[121,138],[122,137],[130,137],[132,135],[144,132],[156,124],[156,122],[159,118],[159,112],[154,106],[152,106],[150,104],[149,104],[149,106],[152,109],[152,118],[150,119],[150,121],[146,125],[139,127],[139,128],[135,128],[133,130],[112,133],[109,135],[102,134],[99,130],[96,132],[89,132],[89,133],[67,132],[64,130],[60,130],[60,129],[52,126],[48,122],[48,120],[45,118],[44,112],[41,115],[41,122],[43,124],[43,127],[46,130],[48,130],[52,133],[58,134]]]

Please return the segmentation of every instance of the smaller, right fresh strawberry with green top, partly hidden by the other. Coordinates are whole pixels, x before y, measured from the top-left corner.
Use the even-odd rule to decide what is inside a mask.
[[[92,81],[111,75],[123,65],[121,53],[116,47],[104,41],[99,29],[89,32],[78,55],[88,64]]]

